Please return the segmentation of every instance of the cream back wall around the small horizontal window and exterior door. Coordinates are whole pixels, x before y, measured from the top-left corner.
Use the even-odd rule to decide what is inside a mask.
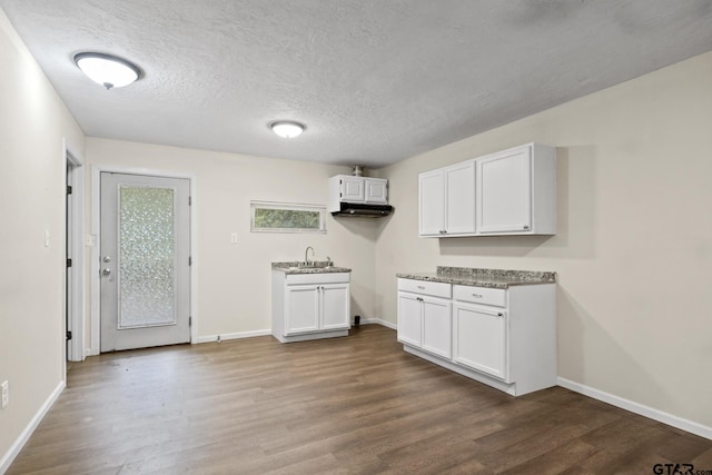
[[[325,235],[249,230],[250,200],[326,205],[327,179],[347,168],[97,138],[87,139],[87,161],[195,175],[199,338],[270,329],[270,263],[304,260],[307,246],[353,269],[352,315],[374,315],[374,220],[329,215]]]

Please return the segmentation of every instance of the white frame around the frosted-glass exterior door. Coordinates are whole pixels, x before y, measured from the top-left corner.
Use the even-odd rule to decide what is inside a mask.
[[[181,178],[190,182],[190,256],[191,266],[189,273],[190,285],[190,343],[198,342],[198,296],[196,277],[198,275],[197,244],[198,234],[198,204],[197,204],[197,179],[195,174],[180,174],[165,170],[152,170],[146,168],[131,168],[110,165],[91,166],[91,349],[90,355],[99,355],[101,352],[101,286],[99,278],[100,256],[99,244],[101,243],[101,174],[125,174],[125,175],[147,175],[162,178]]]

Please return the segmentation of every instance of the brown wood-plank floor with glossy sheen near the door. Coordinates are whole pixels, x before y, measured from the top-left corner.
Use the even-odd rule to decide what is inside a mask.
[[[653,474],[671,463],[712,471],[712,441],[561,387],[513,398],[370,325],[88,358],[8,473]]]

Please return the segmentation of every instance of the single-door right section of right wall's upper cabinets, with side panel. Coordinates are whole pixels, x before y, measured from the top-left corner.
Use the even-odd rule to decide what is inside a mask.
[[[479,234],[556,234],[556,151],[527,145],[477,162]]]

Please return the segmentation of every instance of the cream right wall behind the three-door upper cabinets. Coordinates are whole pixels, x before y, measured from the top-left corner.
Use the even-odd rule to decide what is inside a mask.
[[[377,304],[437,265],[558,273],[558,374],[712,426],[712,52],[380,170]],[[417,174],[558,148],[555,237],[417,237]]]

